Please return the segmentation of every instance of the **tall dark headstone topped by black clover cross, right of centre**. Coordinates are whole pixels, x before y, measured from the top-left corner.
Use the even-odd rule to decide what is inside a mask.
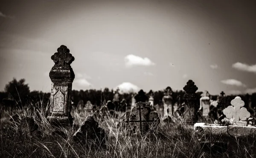
[[[183,96],[183,101],[185,103],[183,116],[187,123],[196,122],[195,114],[198,110],[198,105],[195,92],[198,90],[198,87],[195,85],[195,82],[190,79],[185,87],[183,87],[183,90],[186,92]]]

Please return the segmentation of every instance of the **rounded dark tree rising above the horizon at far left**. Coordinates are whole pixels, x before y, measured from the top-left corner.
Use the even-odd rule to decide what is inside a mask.
[[[12,97],[16,100],[16,102],[26,101],[27,96],[29,95],[29,85],[25,84],[25,79],[17,79],[13,78],[11,82],[6,84],[5,89],[7,94],[11,94]]]

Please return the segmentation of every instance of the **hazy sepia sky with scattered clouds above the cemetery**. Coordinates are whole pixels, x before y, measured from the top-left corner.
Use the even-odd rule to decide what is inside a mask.
[[[75,90],[256,92],[255,0],[0,0],[0,91],[50,92],[60,45]]]

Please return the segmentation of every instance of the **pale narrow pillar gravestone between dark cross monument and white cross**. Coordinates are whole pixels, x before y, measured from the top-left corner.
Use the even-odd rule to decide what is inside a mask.
[[[200,98],[200,108],[199,110],[203,110],[203,116],[208,116],[210,112],[210,94],[207,90],[204,91],[204,93],[201,95]]]

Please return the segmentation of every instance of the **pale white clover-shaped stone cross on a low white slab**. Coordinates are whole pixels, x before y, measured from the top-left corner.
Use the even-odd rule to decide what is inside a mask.
[[[244,106],[244,101],[239,96],[231,101],[231,105],[223,110],[224,115],[228,119],[232,119],[231,122],[236,124],[247,125],[247,118],[250,117],[250,113]]]

